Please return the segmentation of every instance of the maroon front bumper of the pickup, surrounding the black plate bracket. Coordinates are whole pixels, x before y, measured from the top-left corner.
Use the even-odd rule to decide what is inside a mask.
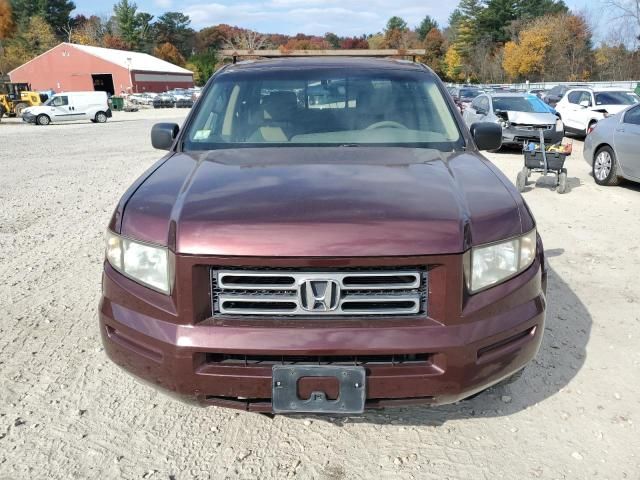
[[[103,282],[99,317],[107,355],[147,383],[203,406],[271,412],[273,362],[349,359],[366,369],[365,408],[453,403],[522,369],[544,332],[546,272],[539,260],[488,291],[508,292],[492,302],[490,315],[481,309],[477,319],[455,325],[426,317],[375,326],[356,318],[315,320],[304,328],[304,319],[175,324],[140,313],[133,282],[108,265]],[[330,380],[301,380],[299,395],[322,390],[331,398],[337,392]]]

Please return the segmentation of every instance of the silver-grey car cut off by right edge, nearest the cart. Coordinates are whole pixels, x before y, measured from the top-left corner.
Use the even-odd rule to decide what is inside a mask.
[[[598,185],[640,182],[640,105],[600,120],[584,141],[584,158]]]

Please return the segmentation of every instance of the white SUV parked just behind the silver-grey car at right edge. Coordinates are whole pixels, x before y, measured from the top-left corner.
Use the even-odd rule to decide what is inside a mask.
[[[569,90],[556,105],[556,111],[568,132],[587,135],[603,118],[640,102],[630,90],[577,88]]]

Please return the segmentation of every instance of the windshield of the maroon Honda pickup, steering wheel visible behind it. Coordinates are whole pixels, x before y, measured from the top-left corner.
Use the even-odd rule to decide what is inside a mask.
[[[220,74],[198,103],[185,150],[464,145],[443,90],[427,72],[238,70]]]

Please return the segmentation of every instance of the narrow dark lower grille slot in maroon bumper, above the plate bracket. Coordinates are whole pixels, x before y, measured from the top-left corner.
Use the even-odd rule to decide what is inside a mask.
[[[390,355],[241,355],[206,353],[205,362],[224,366],[260,367],[270,365],[419,365],[431,362],[428,353]]]

